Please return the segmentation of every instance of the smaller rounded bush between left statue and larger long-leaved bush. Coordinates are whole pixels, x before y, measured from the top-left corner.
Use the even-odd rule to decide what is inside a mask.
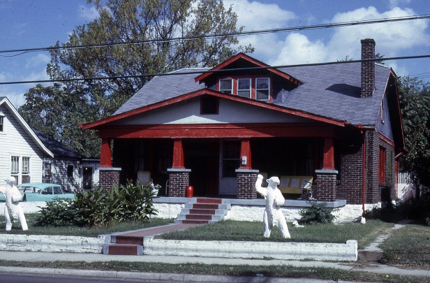
[[[36,226],[73,226],[78,212],[75,201],[71,198],[57,198],[47,201],[45,207],[40,207],[36,217]]]

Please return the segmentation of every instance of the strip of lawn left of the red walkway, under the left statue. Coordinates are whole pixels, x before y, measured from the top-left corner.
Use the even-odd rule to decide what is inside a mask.
[[[98,235],[112,234],[124,231],[133,231],[142,228],[154,226],[162,226],[173,223],[173,219],[152,218],[140,220],[136,222],[121,222],[114,223],[110,226],[93,226],[77,227],[77,226],[33,226],[36,223],[38,213],[29,213],[25,215],[29,230],[22,231],[21,224],[14,222],[11,231],[6,231],[6,223],[4,216],[0,216],[0,233],[4,234],[24,234],[24,235],[71,235],[81,237],[97,237]]]

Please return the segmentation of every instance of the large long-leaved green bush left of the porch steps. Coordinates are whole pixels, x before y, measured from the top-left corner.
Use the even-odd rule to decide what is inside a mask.
[[[111,222],[135,221],[148,219],[156,215],[152,201],[154,194],[151,186],[127,180],[125,185],[112,189],[96,188],[75,194],[78,210],[78,224],[107,225]]]

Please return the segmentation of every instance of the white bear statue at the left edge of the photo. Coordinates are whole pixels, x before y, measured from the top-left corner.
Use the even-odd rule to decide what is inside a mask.
[[[12,229],[12,222],[19,220],[22,230],[28,230],[27,221],[20,205],[21,194],[15,186],[15,177],[10,176],[6,181],[6,187],[0,187],[0,193],[6,199],[4,205],[4,219],[6,220],[6,231]]]

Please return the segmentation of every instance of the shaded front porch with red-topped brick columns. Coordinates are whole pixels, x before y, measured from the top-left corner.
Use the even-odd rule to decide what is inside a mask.
[[[103,143],[110,145],[108,140]],[[115,139],[112,164],[101,164],[101,180],[122,184],[137,180],[144,170],[163,187],[161,196],[184,197],[186,187],[193,186],[193,196],[256,199],[260,173],[306,175],[313,178],[313,198],[335,201],[333,143],[332,138]],[[107,147],[107,155],[110,150]],[[112,184],[101,182],[103,187]],[[297,189],[284,196],[300,198]]]

